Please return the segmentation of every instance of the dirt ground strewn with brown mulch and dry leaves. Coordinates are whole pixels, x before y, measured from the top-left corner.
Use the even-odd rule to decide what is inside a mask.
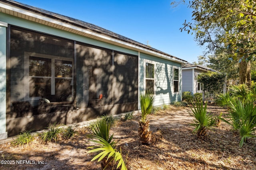
[[[131,170],[256,170],[256,139],[248,139],[239,148],[239,137],[226,123],[208,131],[208,138],[202,141],[192,133],[193,118],[189,107],[172,107],[148,115],[150,129],[160,130],[162,140],[154,147],[141,145],[138,137],[138,120],[134,115],[130,121],[117,121],[110,134],[114,133],[117,148],[128,153]],[[208,106],[208,111],[218,115],[226,109]],[[90,160],[96,155],[88,153],[91,146],[86,138],[87,128],[68,140],[42,144],[34,140],[23,147],[10,143],[0,145],[0,169],[12,170],[100,170],[100,163]],[[2,161],[1,161],[2,162]]]

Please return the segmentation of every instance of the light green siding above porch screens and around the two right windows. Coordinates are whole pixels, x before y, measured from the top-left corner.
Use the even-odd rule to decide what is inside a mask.
[[[50,35],[63,37],[66,39],[74,40],[81,43],[87,43],[90,45],[95,45],[98,47],[104,47],[106,49],[111,49],[114,51],[120,51],[122,53],[128,53],[132,55],[138,55],[138,51],[134,51],[131,49],[126,49],[124,47],[119,47],[117,45],[112,45],[109,43],[105,43],[103,41],[98,41],[95,39],[91,39],[88,37],[84,37],[75,33],[70,33],[68,31],[63,31],[54,27],[49,27],[43,24],[39,24],[36,22],[24,20],[21,18],[17,18],[14,16],[10,16],[8,14],[3,14],[0,12],[0,21],[6,22],[10,25],[15,25],[18,27],[24,27],[26,29],[31,29],[34,31],[39,31],[42,33],[47,33]],[[6,41],[2,41],[6,42]],[[156,64],[156,76],[155,76],[155,94],[156,94],[156,102],[155,106],[163,105],[163,104],[170,104],[174,101],[180,101],[181,100],[181,64],[172,62],[166,59],[161,59],[158,57],[154,57],[152,55],[147,55],[144,53],[140,53],[140,59],[139,59],[139,82],[138,82],[138,90],[139,92],[144,92],[144,60],[148,61],[154,61]],[[79,64],[78,64],[79,65]],[[179,92],[174,93],[173,92],[173,69],[178,68],[179,69]],[[79,75],[78,70],[78,75]],[[77,79],[79,81],[79,78]],[[77,82],[78,83],[78,82]],[[82,93],[82,90],[77,91],[78,93]],[[140,106],[139,106],[140,107]]]

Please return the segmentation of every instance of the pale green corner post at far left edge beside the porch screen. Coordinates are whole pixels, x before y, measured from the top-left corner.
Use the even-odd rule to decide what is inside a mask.
[[[6,27],[0,23],[0,139],[6,132]]]

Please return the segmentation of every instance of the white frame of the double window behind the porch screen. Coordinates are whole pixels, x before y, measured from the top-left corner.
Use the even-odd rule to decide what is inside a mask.
[[[44,76],[30,76],[29,75],[29,57],[40,57],[45,59],[51,59],[51,77],[44,77]],[[59,77],[55,77],[55,60],[62,60],[62,61],[71,61],[72,62],[72,77],[60,77],[65,79],[71,79],[71,81],[74,81],[74,59],[73,58],[67,58],[67,57],[59,57],[54,55],[45,55],[40,53],[30,53],[30,52],[24,52],[24,94],[25,94],[25,100],[40,100],[42,97],[29,97],[29,81],[30,78],[51,78],[51,95],[55,95],[55,79]],[[72,86],[74,89],[74,86]],[[72,95],[73,94],[72,90]]]

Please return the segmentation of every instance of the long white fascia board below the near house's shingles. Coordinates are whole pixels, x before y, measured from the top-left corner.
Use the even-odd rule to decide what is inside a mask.
[[[77,31],[80,31],[80,32],[83,32],[83,33],[86,33],[86,34],[89,34],[89,35],[93,35],[95,37],[99,37],[101,39],[105,39],[106,41],[112,41],[114,43],[119,43],[121,45],[124,45],[124,46],[130,48],[130,49],[133,49],[133,50],[136,49],[136,50],[138,50],[138,51],[140,51],[142,53],[148,53],[148,54],[154,55],[156,57],[160,57],[160,58],[163,58],[163,59],[166,59],[166,60],[169,60],[169,61],[174,61],[174,62],[177,62],[177,63],[182,63],[182,64],[187,63],[186,61],[182,61],[182,60],[170,57],[168,55],[164,55],[164,54],[158,53],[156,51],[151,51],[149,49],[145,49],[145,48],[139,47],[137,45],[126,43],[126,42],[120,41],[118,39],[114,39],[114,38],[111,38],[111,37],[108,37],[108,36],[105,36],[105,35],[102,35],[102,34],[99,34],[99,33],[95,33],[93,31],[88,31],[88,30],[83,29],[81,27],[77,27],[75,25],[72,25],[72,24],[69,24],[69,23],[65,23],[65,22],[62,22],[62,21],[59,21],[59,20],[55,20],[55,19],[43,16],[43,15],[40,15],[40,14],[36,14],[34,12],[30,12],[28,10],[24,10],[22,8],[18,8],[16,6],[6,5],[6,4],[3,4],[2,2],[0,2],[0,5],[1,5],[2,8],[6,8],[8,10],[11,10],[11,11],[14,11],[14,12],[18,12],[20,14],[24,14],[26,16],[38,18],[39,20],[48,21],[50,23],[54,23],[54,24],[61,25],[63,27],[67,27],[67,28],[70,28],[70,29],[74,29],[74,30],[77,30]]]

